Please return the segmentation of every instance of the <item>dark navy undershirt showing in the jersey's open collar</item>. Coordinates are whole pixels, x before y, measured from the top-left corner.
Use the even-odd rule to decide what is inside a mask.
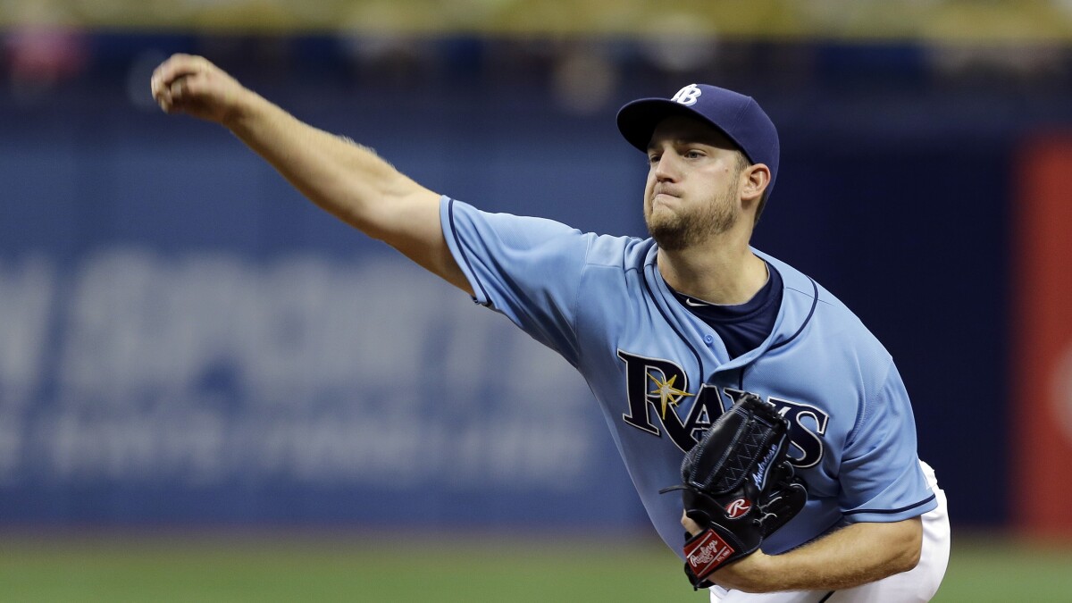
[[[744,304],[720,305],[704,302],[674,291],[667,285],[682,306],[715,329],[730,358],[755,350],[774,330],[774,321],[781,306],[781,275],[770,264],[766,283]]]

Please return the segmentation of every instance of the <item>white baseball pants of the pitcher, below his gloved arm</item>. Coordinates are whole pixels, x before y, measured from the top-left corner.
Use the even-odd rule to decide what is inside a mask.
[[[788,591],[751,594],[711,587],[711,601],[718,603],[924,603],[938,591],[949,564],[949,514],[946,492],[938,487],[934,469],[920,462],[927,483],[934,489],[938,508],[923,514],[923,550],[911,571],[850,588],[830,591]]]

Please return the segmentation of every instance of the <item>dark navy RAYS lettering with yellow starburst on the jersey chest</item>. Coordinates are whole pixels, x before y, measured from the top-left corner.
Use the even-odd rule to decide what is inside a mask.
[[[746,393],[709,383],[701,384],[694,393],[689,388],[688,374],[670,361],[638,356],[622,350],[617,351],[617,357],[625,363],[629,405],[622,418],[653,436],[661,437],[666,431],[682,452],[688,452],[696,445],[703,431],[726,411],[723,396],[732,406]],[[792,464],[802,469],[818,465],[822,459],[822,436],[827,432],[830,415],[810,405],[792,400],[771,396],[768,401],[789,420],[789,457]],[[678,412],[680,407],[689,409],[684,417]]]

